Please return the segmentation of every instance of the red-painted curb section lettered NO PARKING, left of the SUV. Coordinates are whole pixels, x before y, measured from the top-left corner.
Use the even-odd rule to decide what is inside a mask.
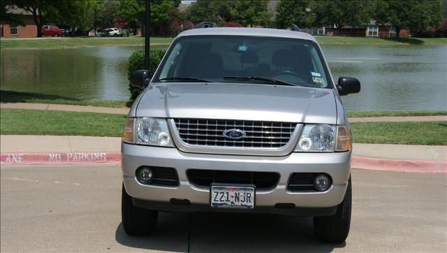
[[[1,153],[1,165],[119,164],[118,152]]]

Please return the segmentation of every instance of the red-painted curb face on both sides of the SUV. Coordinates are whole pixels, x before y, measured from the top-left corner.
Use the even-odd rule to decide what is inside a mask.
[[[119,152],[1,153],[1,165],[120,164]],[[374,171],[447,174],[447,161],[384,159],[353,156],[352,168]]]

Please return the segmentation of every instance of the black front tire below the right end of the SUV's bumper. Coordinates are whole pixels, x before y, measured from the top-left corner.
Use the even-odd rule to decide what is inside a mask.
[[[314,235],[323,243],[343,243],[349,234],[351,226],[352,205],[351,176],[342,203],[337,207],[337,212],[332,216],[314,217]]]

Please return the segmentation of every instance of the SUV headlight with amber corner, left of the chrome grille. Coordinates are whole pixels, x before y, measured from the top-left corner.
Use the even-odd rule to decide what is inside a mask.
[[[174,146],[166,120],[155,117],[129,118],[124,127],[123,141],[142,145]]]

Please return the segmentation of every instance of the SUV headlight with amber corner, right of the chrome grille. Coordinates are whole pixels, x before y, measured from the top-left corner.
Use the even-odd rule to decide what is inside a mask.
[[[351,136],[346,126],[307,124],[295,152],[334,152],[351,149]]]

